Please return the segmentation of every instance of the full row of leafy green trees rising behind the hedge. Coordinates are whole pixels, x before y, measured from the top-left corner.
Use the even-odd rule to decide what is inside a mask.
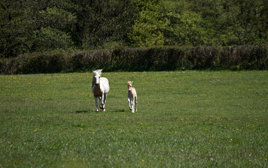
[[[258,45],[268,41],[267,13],[266,0],[2,0],[0,58],[118,46]]]

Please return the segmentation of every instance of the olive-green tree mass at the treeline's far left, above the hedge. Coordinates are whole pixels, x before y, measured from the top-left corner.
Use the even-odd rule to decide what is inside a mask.
[[[70,47],[76,16],[68,9],[66,1],[1,1],[0,57]]]

